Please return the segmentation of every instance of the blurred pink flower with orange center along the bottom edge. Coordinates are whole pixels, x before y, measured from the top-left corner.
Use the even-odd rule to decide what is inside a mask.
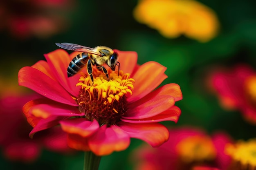
[[[230,157],[223,154],[225,145],[231,142],[225,133],[209,136],[193,127],[169,129],[169,132],[172,137],[162,146],[143,145],[132,153],[136,170],[191,170],[207,165],[223,168],[230,163]]]

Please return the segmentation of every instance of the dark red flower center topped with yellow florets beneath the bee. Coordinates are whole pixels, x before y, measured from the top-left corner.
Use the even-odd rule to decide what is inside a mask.
[[[83,74],[76,86],[81,86],[77,103],[81,113],[85,117],[97,120],[99,125],[115,124],[128,110],[126,94],[132,95],[134,79],[129,78],[130,74],[120,71],[109,74],[110,80],[100,71],[94,70],[94,82],[90,75]],[[92,84],[92,85],[91,85]]]

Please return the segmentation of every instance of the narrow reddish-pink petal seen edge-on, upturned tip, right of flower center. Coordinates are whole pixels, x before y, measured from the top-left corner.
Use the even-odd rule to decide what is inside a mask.
[[[148,117],[145,119],[124,119],[121,118],[121,121],[134,123],[134,124],[144,124],[144,123],[152,123],[152,122],[160,122],[160,121],[174,121],[177,123],[179,117],[181,114],[180,108],[177,106],[173,106],[169,108],[168,110],[165,110],[164,112],[155,115],[153,117]]]

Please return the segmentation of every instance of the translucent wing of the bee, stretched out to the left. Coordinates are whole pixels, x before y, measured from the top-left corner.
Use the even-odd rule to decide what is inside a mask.
[[[63,43],[55,43],[57,46],[66,49],[66,50],[72,50],[72,51],[81,51],[84,53],[90,53],[90,54],[95,54],[95,55],[101,55],[101,53],[97,53],[95,51],[92,51],[91,47],[87,46],[81,46],[78,44],[73,44],[73,43],[68,43],[68,42],[63,42]]]

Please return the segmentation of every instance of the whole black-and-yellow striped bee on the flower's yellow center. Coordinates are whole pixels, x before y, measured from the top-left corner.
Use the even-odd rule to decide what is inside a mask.
[[[103,64],[107,64],[112,71],[115,71],[117,65],[119,75],[120,63],[117,62],[118,54],[107,46],[96,46],[95,48],[91,48],[66,42],[56,43],[56,45],[63,49],[83,52],[76,55],[68,65],[67,77],[72,77],[84,66],[87,66],[87,72],[88,75],[90,75],[93,84],[92,66],[96,65],[98,70],[103,71],[108,80],[110,80],[108,71]]]

